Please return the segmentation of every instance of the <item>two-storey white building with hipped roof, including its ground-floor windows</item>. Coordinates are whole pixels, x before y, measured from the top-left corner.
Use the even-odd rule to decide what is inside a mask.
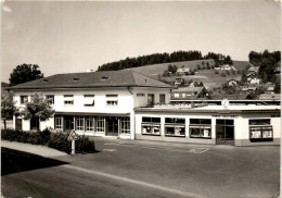
[[[134,108],[168,103],[174,87],[133,71],[56,74],[9,87],[21,110],[34,91],[51,99],[54,116],[44,122],[14,116],[14,128],[51,127],[92,136],[134,139]]]

